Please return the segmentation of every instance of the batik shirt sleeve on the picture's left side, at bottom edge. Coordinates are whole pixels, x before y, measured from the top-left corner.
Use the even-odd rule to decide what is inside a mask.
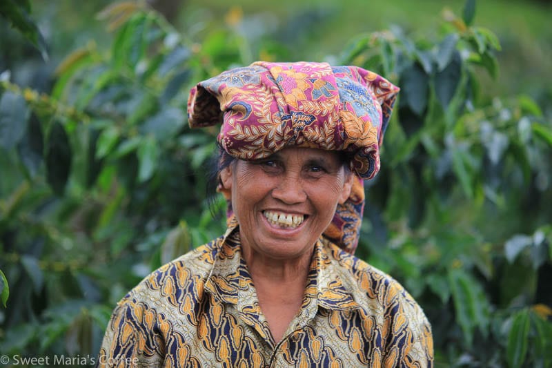
[[[96,367],[161,367],[164,349],[155,333],[155,311],[124,299],[113,311],[103,336]]]

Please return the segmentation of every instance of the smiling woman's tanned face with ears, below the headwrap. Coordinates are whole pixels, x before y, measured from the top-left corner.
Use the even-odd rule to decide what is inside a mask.
[[[353,175],[335,152],[292,147],[237,160],[221,180],[232,193],[244,249],[286,260],[311,253],[337,203],[348,198]]]

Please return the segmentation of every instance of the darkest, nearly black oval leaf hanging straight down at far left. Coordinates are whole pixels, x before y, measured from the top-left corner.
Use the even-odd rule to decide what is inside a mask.
[[[46,180],[57,195],[62,195],[71,169],[72,150],[66,130],[54,122],[46,140]]]

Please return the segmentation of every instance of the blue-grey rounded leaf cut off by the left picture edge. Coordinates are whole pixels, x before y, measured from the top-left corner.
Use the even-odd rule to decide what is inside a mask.
[[[0,97],[0,146],[16,146],[25,135],[30,111],[23,96],[6,91]]]

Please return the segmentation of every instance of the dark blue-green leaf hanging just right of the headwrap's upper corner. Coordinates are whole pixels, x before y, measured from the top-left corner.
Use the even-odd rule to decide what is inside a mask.
[[[412,64],[401,73],[402,98],[418,116],[422,116],[427,106],[429,78],[420,64]]]

